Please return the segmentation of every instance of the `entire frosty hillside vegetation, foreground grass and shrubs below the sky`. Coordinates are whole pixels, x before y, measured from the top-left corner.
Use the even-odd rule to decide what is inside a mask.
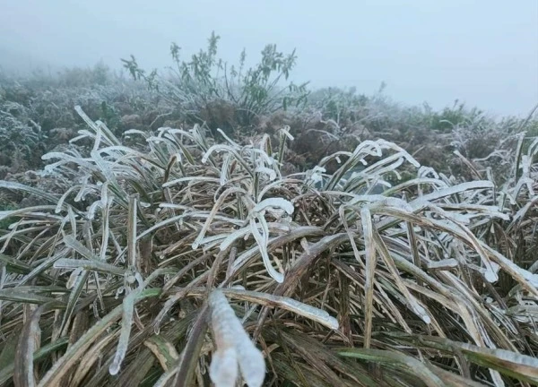
[[[536,385],[534,112],[218,40],[0,76],[0,386]]]

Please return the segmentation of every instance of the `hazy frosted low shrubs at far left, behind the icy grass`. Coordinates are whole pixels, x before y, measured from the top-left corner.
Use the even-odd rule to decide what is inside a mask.
[[[99,69],[99,65],[96,69]],[[164,119],[178,115],[158,96],[131,81],[110,75],[106,84],[96,84],[98,70],[83,71],[81,79],[65,82],[63,76],[34,74],[27,79],[3,79],[0,92],[0,165],[12,173],[43,166],[41,156],[57,146],[64,146],[84,127],[75,114],[81,105],[93,119],[103,121],[121,135],[132,129],[124,115],[140,116],[142,124],[154,128]],[[103,72],[105,70],[102,70]],[[79,82],[80,81],[80,82]],[[87,85],[87,86],[84,86]]]

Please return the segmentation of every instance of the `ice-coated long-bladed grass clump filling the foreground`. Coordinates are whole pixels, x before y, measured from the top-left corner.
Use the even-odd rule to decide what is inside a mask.
[[[286,127],[129,131],[141,150],[78,112],[89,147],[0,182],[33,198],[0,211],[0,385],[538,383],[538,142],[502,185],[383,140],[285,175]]]

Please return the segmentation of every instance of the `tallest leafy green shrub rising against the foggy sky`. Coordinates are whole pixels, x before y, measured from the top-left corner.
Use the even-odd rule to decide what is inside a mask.
[[[146,73],[134,56],[122,62],[135,80],[143,79],[152,90],[159,90],[170,103],[187,108],[189,115],[199,121],[204,121],[208,111],[230,105],[235,110],[232,124],[250,126],[260,115],[286,110],[306,100],[306,84],[282,85],[295,66],[295,51],[284,55],[275,45],[267,45],[260,63],[245,68],[244,50],[238,65],[229,65],[217,57],[219,39],[213,32],[207,49],[200,50],[190,61],[181,59],[180,47],[172,43],[170,54],[174,67],[163,76],[157,70]],[[229,116],[218,125],[232,131],[234,125],[230,124]],[[211,129],[215,131],[216,127]]]

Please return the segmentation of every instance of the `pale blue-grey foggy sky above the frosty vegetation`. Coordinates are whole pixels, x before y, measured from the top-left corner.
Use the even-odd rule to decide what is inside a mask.
[[[538,103],[538,0],[0,0],[0,64],[112,67],[134,54],[144,68],[204,47],[252,60],[267,43],[297,47],[297,81],[386,82],[395,100],[433,107],[465,100],[494,114]],[[18,58],[15,62],[11,57]],[[11,62],[10,62],[11,61]],[[20,64],[22,65],[22,64]]]

